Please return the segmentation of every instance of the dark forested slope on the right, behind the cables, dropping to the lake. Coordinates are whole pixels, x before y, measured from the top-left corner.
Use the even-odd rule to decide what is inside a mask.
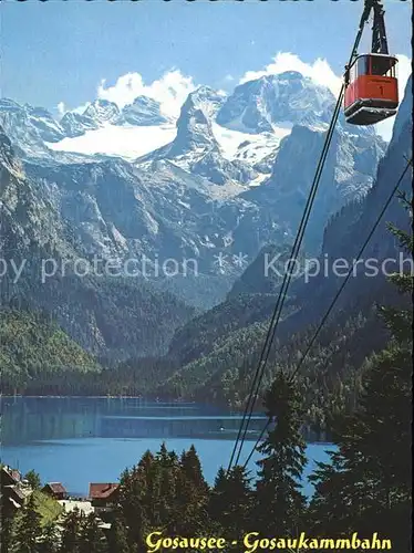
[[[301,353],[307,351],[313,340],[298,385],[309,396],[312,392],[310,383],[320,384],[319,422],[324,420],[327,405],[330,405],[333,395],[343,396],[344,390],[339,389],[339,386],[345,383],[346,394],[352,396],[359,378],[358,371],[390,338],[377,317],[375,305],[405,305],[384,274],[370,279],[362,265],[350,279],[335,309],[314,340],[313,333],[343,282],[344,275],[335,274],[333,263],[343,258],[352,267],[363,237],[374,225],[390,195],[390,187],[412,157],[411,92],[412,77],[395,121],[393,139],[379,164],[374,186],[364,197],[344,205],[325,226],[318,260],[323,268],[328,259],[328,274],[323,269],[309,276],[308,281],[303,274],[293,279],[265,374],[263,389],[270,385],[276,367],[293,371]],[[401,191],[408,197],[412,194],[410,173],[401,182]],[[387,229],[389,222],[412,232],[412,218],[395,197],[364,251],[363,259],[376,259],[379,264],[389,257],[399,259],[403,250]],[[235,282],[225,302],[198,315],[175,333],[169,355],[180,368],[162,383],[157,388],[159,393],[187,399],[204,397],[232,406],[244,404],[251,371],[259,358],[279,293],[281,279],[272,273],[267,278],[261,274],[266,265],[265,255],[269,253],[280,255],[278,248],[263,248]]]

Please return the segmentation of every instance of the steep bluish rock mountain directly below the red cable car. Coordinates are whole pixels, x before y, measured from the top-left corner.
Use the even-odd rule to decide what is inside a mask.
[[[294,125],[291,134],[281,142],[270,177],[262,186],[244,194],[244,197],[259,204],[263,210],[279,211],[283,206],[292,228],[297,228],[325,134],[325,131]],[[304,243],[308,251],[318,251],[323,236],[320,221],[329,220],[333,212],[349,201],[362,199],[366,195],[374,182],[373,168],[383,155],[384,143],[381,139],[363,134],[354,136],[338,125],[307,228]],[[292,170],[294,160],[300,163]]]

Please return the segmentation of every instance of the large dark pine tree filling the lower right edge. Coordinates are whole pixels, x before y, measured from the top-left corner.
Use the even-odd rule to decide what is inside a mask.
[[[412,237],[394,233],[412,251]],[[412,292],[412,274],[391,280],[403,294]],[[381,531],[396,551],[408,551],[412,310],[382,307],[380,315],[392,338],[362,374],[356,411],[337,421],[338,451],[312,476],[317,491],[310,513],[320,533],[358,531],[370,536]]]

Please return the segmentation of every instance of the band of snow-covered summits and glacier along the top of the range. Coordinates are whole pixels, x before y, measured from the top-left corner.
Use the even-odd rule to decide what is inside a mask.
[[[216,184],[259,185],[270,175],[280,142],[289,136],[292,125],[324,129],[333,104],[328,88],[297,72],[245,83],[228,97],[201,86],[189,94],[176,122],[146,96],[122,109],[96,100],[83,113],[68,112],[59,123],[49,114],[48,128],[54,132],[49,132],[45,140],[35,128],[35,136],[27,136],[25,150],[29,157],[40,157],[42,150],[50,156],[52,149],[118,156],[139,164],[168,159]],[[34,119],[33,128],[44,126],[44,117],[38,125]],[[340,124],[344,125],[342,117]],[[23,121],[20,125],[24,128],[4,128],[21,142],[28,125]],[[373,135],[372,129],[352,132]],[[34,150],[32,143],[37,143]]]

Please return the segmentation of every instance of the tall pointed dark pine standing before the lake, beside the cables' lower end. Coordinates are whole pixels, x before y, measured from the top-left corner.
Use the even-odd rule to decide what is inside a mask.
[[[301,435],[302,406],[293,382],[279,372],[266,395],[267,414],[275,421],[258,450],[253,520],[263,535],[297,535],[306,499],[300,479],[306,465],[306,444]]]

